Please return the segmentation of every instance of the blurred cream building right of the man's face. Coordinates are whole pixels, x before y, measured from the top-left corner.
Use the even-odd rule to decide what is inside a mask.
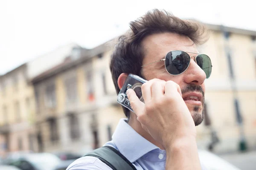
[[[210,39],[201,53],[212,60],[205,81],[207,116],[211,125],[198,126],[198,147],[206,148],[214,129],[215,152],[239,150],[244,132],[249,149],[256,148],[256,31],[208,25]],[[209,124],[209,123],[208,123]]]

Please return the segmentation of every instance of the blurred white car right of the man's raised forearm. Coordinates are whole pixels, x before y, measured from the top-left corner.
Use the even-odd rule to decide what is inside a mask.
[[[207,150],[198,150],[199,159],[207,170],[240,170],[233,164]]]

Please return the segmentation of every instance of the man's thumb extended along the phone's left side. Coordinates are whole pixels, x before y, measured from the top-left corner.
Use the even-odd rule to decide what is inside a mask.
[[[126,91],[126,94],[128,96],[128,99],[130,101],[131,104],[131,108],[134,111],[134,113],[138,116],[139,114],[143,113],[144,110],[144,106],[145,104],[140,101],[140,99],[138,98],[138,96],[136,95],[135,91],[131,88],[129,88]]]

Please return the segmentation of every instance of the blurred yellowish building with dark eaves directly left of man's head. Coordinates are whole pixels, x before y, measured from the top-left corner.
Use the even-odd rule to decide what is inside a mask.
[[[32,79],[40,151],[85,154],[110,140],[124,116],[108,66],[111,49],[76,50]]]

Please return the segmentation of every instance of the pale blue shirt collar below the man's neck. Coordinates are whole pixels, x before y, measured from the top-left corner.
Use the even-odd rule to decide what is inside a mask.
[[[119,121],[112,139],[119,152],[131,163],[151,150],[159,149],[159,147],[140,136],[126,121],[127,119]]]

